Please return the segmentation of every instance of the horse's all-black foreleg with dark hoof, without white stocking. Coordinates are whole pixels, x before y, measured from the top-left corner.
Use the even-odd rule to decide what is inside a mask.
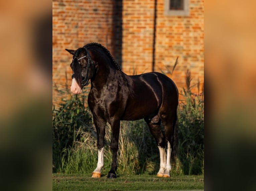
[[[112,137],[111,137],[111,144],[110,144],[110,148],[112,150],[112,165],[108,173],[108,178],[116,178],[117,150],[118,150],[118,140],[119,140],[119,132],[120,132],[120,121],[115,120],[111,122],[110,125],[112,130]]]

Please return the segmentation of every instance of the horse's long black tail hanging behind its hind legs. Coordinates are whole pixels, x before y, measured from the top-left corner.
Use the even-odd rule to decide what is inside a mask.
[[[178,154],[178,121],[177,112],[173,121],[172,126],[172,136],[171,136],[171,163],[172,165],[176,162],[176,157]]]

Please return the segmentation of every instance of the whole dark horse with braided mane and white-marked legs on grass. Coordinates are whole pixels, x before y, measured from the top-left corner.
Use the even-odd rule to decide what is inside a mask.
[[[101,177],[105,126],[111,125],[112,166],[108,178],[116,178],[117,150],[121,120],[146,121],[160,152],[157,176],[170,177],[171,156],[174,156],[174,127],[177,120],[178,90],[163,74],[151,72],[128,76],[110,52],[98,43],[68,50],[73,55],[71,91],[81,94],[91,80],[88,105],[97,130],[98,164],[92,177]],[[161,130],[162,121],[164,133]],[[165,150],[166,149],[166,150]]]

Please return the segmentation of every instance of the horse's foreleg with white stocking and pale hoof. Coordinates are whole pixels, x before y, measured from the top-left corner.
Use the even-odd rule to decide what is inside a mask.
[[[101,169],[104,165],[103,154],[104,154],[104,137],[105,137],[105,126],[106,123],[104,120],[93,117],[94,124],[97,130],[97,147],[98,147],[98,163],[96,169],[93,171],[93,178],[101,177]]]

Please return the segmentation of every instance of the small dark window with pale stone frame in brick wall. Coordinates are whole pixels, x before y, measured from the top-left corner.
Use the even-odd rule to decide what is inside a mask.
[[[188,0],[165,0],[164,14],[173,16],[188,16]]]

